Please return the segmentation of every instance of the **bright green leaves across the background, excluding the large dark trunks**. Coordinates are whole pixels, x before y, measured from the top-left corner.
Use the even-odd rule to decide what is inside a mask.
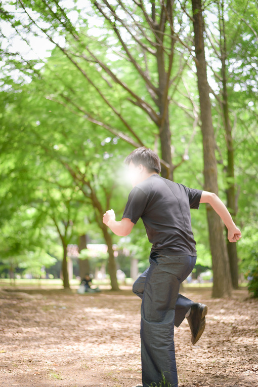
[[[28,58],[12,51],[12,46],[7,44],[4,36],[5,29],[1,32],[0,56],[3,66],[0,76],[3,91],[0,93],[0,227],[4,237],[1,239],[0,254],[2,259],[9,255],[14,260],[13,264],[19,265],[20,257],[24,257],[25,252],[34,254],[37,260],[37,249],[51,252],[56,248],[58,231],[54,229],[54,222],[66,243],[76,243],[77,237],[84,233],[88,233],[92,240],[104,243],[100,228],[101,211],[113,207],[119,219],[131,189],[120,167],[123,159],[137,146],[139,140],[147,146],[155,147],[158,152],[160,150],[157,142],[158,127],[148,115],[148,109],[152,108],[156,112],[157,106],[136,66],[128,59],[124,47],[119,43],[114,25],[122,32],[128,52],[144,73],[149,75],[155,87],[158,85],[159,72],[152,53],[157,44],[150,43],[154,36],[153,29],[149,28],[144,19],[144,12],[151,13],[147,5],[141,9],[133,3],[116,4],[116,11],[126,15],[126,30],[121,20],[114,20],[112,15],[111,24],[106,20],[103,22],[100,10],[96,9],[97,2],[83,8],[74,2],[68,10],[62,9],[60,2],[50,1],[47,4],[39,0],[24,1],[27,11],[35,16],[34,21],[27,19],[19,6],[21,3],[12,2],[9,8],[8,3],[1,4],[3,26],[8,24],[12,27],[16,38],[20,36],[23,43],[28,42],[27,48],[32,37],[42,39],[44,34],[54,41],[58,38],[59,43],[64,42],[65,48],[65,51],[54,48],[51,56],[44,60],[35,59],[35,55]],[[209,34],[207,28],[207,36],[210,36],[210,39],[206,39],[207,60],[209,68],[212,68],[209,71],[214,93],[211,99],[212,115],[220,163],[220,196],[223,199],[225,190],[234,182],[233,178],[227,178],[226,173],[227,144],[220,102],[222,82],[218,64],[218,28],[222,13],[221,8],[219,13],[218,5],[222,7],[223,4],[229,114],[235,147],[237,223],[243,231],[238,250],[240,270],[247,273],[255,269],[255,230],[258,228],[258,51],[255,32],[258,15],[252,2],[246,2],[244,7],[240,0],[205,5],[206,27],[210,26],[211,32]],[[16,17],[17,10],[22,17]],[[190,3],[186,4],[184,11],[191,12]],[[160,4],[156,3],[157,22],[159,12]],[[179,165],[175,169],[175,181],[201,189],[204,168],[201,133],[198,127],[193,126],[196,117],[198,119],[198,95],[195,71],[189,56],[192,25],[186,15],[180,4],[175,2],[173,28],[177,38],[168,108],[173,158],[175,165]],[[101,21],[97,28],[92,26],[95,21]],[[44,28],[40,30],[38,27],[42,25]],[[164,61],[167,68],[171,26],[167,24],[165,28]],[[130,32],[134,32],[137,38],[141,36],[140,42],[146,49],[134,41]],[[189,46],[189,50],[186,46]],[[139,107],[139,100],[133,98],[121,82],[115,82],[110,71],[139,100],[148,103],[146,111]],[[182,160],[184,162],[181,164]],[[92,202],[91,188],[96,194],[99,207],[96,202]],[[71,227],[67,228],[67,224]],[[192,224],[197,241],[197,263],[210,267],[204,206],[199,211],[192,211]],[[113,242],[121,241],[122,245],[128,246],[132,256],[140,260],[140,270],[147,267],[150,244],[141,221],[134,227],[130,238],[112,238]],[[28,248],[28,245],[33,248]],[[60,251],[53,255],[61,257]]]

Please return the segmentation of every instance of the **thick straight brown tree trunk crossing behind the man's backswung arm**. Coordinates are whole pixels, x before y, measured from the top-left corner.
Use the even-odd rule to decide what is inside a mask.
[[[201,0],[192,0],[197,82],[201,111],[201,131],[204,158],[204,189],[218,194],[216,142],[211,118],[211,105],[204,53],[203,18]],[[220,217],[207,205],[209,243],[212,256],[213,297],[231,295],[229,259],[224,238],[224,225]]]

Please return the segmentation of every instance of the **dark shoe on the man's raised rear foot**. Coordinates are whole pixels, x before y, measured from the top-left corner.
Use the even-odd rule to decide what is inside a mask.
[[[196,344],[205,329],[205,316],[208,307],[204,304],[193,304],[190,315],[187,317],[192,332],[192,344]]]

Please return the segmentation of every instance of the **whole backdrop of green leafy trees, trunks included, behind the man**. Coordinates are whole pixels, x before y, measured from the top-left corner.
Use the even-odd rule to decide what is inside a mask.
[[[110,208],[122,215],[131,189],[123,160],[144,145],[159,154],[163,177],[199,189],[211,184],[241,228],[233,251],[226,230],[212,233],[205,207],[192,211],[197,264],[213,268],[217,296],[230,294],[228,271],[234,287],[239,275],[252,277],[256,2],[4,0],[0,7],[0,276],[38,275],[58,259],[69,287],[67,246],[82,235],[107,245],[113,289],[114,245],[126,245],[141,271],[150,249],[142,224],[121,241],[102,215]],[[223,274],[216,268],[222,252]]]

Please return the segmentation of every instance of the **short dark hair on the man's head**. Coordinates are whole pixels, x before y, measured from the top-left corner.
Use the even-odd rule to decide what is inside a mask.
[[[133,150],[124,160],[125,164],[130,164],[131,161],[135,166],[142,164],[149,172],[160,173],[161,171],[158,155],[146,146]]]

